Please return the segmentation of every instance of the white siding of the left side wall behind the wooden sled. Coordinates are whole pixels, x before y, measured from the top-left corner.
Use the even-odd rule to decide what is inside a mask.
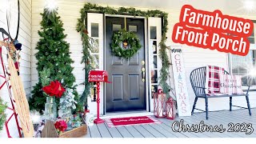
[[[0,0],[0,27],[6,29],[6,7],[4,3],[6,0]],[[21,60],[20,60],[20,74],[22,82],[26,91],[26,97],[30,96],[30,81],[31,81],[31,0],[20,1],[20,29],[18,34],[18,41],[22,43]],[[16,29],[16,28],[15,28]],[[6,29],[7,30],[7,29]],[[2,40],[2,34],[0,34],[0,40]],[[4,50],[4,49],[3,49]],[[6,54],[6,50],[4,50]],[[4,62],[6,63],[6,56],[4,55]],[[2,74],[2,67],[0,70]],[[3,82],[3,78],[0,79],[0,83]],[[3,98],[10,106],[10,98],[7,93],[6,86],[3,86],[0,90],[0,97]],[[6,114],[10,116],[11,111],[6,110]],[[15,124],[14,118],[9,123],[10,135],[18,137],[18,130]],[[6,129],[0,132],[0,138],[7,137]]]

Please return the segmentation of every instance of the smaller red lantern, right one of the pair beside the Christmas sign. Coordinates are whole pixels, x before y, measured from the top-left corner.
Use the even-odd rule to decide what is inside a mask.
[[[174,120],[176,115],[176,105],[173,98],[168,98],[166,101],[166,118]]]

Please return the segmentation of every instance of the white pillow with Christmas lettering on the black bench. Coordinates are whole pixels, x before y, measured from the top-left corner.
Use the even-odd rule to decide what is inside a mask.
[[[222,94],[243,94],[242,76],[219,74],[219,92]]]

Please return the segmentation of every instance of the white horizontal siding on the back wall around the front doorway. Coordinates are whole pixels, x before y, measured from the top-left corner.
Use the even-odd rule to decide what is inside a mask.
[[[62,22],[64,23],[65,34],[68,34],[66,41],[70,42],[70,51],[71,51],[71,58],[74,60],[74,76],[76,78],[76,84],[79,84],[84,81],[84,71],[82,70],[83,65],[80,64],[82,58],[82,42],[80,34],[75,30],[77,19],[80,18],[80,10],[84,5],[84,1],[81,0],[59,0],[58,1],[58,14],[62,17]],[[38,82],[38,72],[36,70],[36,58],[34,54],[36,50],[34,50],[36,43],[38,42],[38,30],[40,29],[39,22],[41,22],[42,17],[40,13],[43,10],[44,1],[43,0],[33,0],[32,2],[32,86]],[[106,6],[106,5],[102,5]],[[118,8],[120,6],[114,6]],[[136,8],[136,7],[135,7]],[[202,6],[200,6],[202,8]],[[146,8],[137,8],[140,10],[148,10]],[[202,8],[203,9],[203,8]],[[164,10],[166,13],[169,14],[168,22],[168,32],[167,32],[167,44],[170,46],[179,46],[179,44],[174,43],[171,41],[171,34],[173,26],[176,22],[178,22],[179,10]],[[256,19],[256,17],[246,17],[246,16],[239,16],[242,18],[250,18]],[[201,48],[196,48],[193,46],[182,46],[184,49],[184,62],[185,62],[185,69],[186,69],[186,82],[188,87],[188,92],[190,95],[190,106],[193,106],[194,102],[194,92],[190,85],[190,72],[199,66],[206,66],[206,65],[215,65],[215,66],[222,66],[228,70],[229,63],[228,63],[228,54],[220,53],[216,50],[204,50]],[[170,69],[170,71],[172,71]],[[172,87],[174,84],[172,82]],[[83,86],[78,86],[78,93],[82,94]],[[256,97],[253,92],[250,93],[250,103],[252,107],[256,106]],[[242,106],[246,106],[245,98],[234,98],[234,104],[239,104]],[[205,102],[203,99],[198,100],[198,108],[204,109]],[[96,107],[90,107],[90,110],[93,111]],[[229,99],[228,98],[212,98],[209,100],[209,110],[228,110],[229,109]],[[102,112],[101,112],[102,113]]]

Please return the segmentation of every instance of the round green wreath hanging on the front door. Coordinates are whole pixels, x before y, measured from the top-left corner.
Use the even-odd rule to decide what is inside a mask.
[[[130,45],[130,48],[128,48],[128,45]],[[131,58],[141,47],[139,39],[134,32],[119,30],[113,34],[111,49],[115,56]]]

